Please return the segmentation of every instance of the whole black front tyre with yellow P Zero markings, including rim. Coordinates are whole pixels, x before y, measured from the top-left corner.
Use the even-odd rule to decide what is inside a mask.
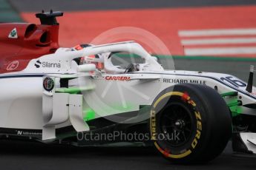
[[[151,106],[151,140],[174,163],[217,157],[232,135],[226,102],[209,86],[179,84],[160,92]]]

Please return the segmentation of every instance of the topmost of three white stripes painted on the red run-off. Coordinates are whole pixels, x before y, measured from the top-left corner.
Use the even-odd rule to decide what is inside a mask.
[[[180,30],[179,35],[180,37],[214,36],[214,35],[256,35],[256,28]]]

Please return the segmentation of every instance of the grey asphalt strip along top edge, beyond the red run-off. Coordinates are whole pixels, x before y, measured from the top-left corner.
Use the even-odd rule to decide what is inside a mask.
[[[256,4],[255,0],[10,0],[19,11],[39,12],[41,10],[122,10],[163,7],[209,7]],[[29,4],[29,5],[27,5]]]

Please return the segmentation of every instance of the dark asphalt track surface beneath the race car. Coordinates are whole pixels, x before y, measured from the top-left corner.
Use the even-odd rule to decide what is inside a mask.
[[[230,143],[210,163],[174,165],[151,147],[76,148],[41,143],[0,142],[1,169],[255,169],[255,157],[237,157]]]

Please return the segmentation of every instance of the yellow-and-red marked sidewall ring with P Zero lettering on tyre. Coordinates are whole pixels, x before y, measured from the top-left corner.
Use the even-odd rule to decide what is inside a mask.
[[[191,115],[194,115],[194,118],[196,119],[196,132],[192,136],[191,143],[189,144],[189,147],[187,149],[184,149],[183,152],[180,154],[173,154],[169,149],[167,148],[161,148],[159,143],[159,139],[157,139],[157,106],[159,106],[160,102],[163,101],[163,99],[171,98],[171,96],[179,97],[180,101],[183,101],[185,103],[188,103],[188,106],[191,106],[193,112],[191,111]],[[164,95],[161,95],[159,98],[154,101],[151,108],[151,117],[150,117],[150,132],[151,132],[151,140],[154,141],[154,145],[156,148],[161,152],[165,157],[171,157],[171,158],[182,158],[188,156],[188,154],[191,154],[193,152],[193,149],[195,149],[199,143],[201,132],[202,132],[202,118],[200,115],[200,112],[196,108],[197,104],[191,99],[191,97],[186,92],[167,92]],[[168,150],[169,152],[166,152]]]

